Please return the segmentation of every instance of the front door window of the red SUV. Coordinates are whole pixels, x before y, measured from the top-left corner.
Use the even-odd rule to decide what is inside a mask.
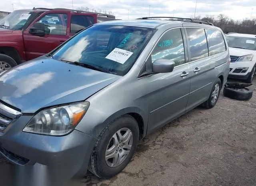
[[[38,22],[44,23],[45,32],[48,34],[66,35],[67,24],[65,18],[67,14],[47,14]]]

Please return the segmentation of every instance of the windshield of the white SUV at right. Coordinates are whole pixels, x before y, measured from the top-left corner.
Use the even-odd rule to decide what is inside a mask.
[[[226,36],[228,47],[256,50],[256,38]]]

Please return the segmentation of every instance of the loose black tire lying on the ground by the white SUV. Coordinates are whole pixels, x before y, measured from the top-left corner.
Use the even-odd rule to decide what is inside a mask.
[[[238,89],[224,87],[223,95],[231,99],[249,100],[252,98],[252,90],[246,87]]]

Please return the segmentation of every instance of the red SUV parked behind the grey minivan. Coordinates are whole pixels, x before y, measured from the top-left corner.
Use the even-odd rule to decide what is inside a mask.
[[[15,10],[0,20],[0,73],[44,55],[84,28],[115,16],[64,8]]]

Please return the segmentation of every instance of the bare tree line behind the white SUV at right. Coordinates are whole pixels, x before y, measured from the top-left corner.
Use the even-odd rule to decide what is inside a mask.
[[[255,34],[256,35],[256,18],[233,20],[232,18],[220,14],[218,16],[196,16],[195,20],[206,20],[220,27],[224,33],[237,32],[242,34]]]

